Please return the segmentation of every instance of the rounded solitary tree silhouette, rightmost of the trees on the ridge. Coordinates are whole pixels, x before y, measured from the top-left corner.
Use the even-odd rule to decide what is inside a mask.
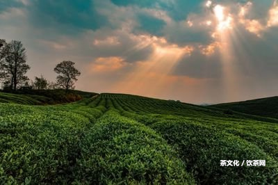
[[[65,88],[66,93],[67,90],[75,88],[74,81],[77,81],[76,77],[79,77],[81,74],[79,70],[76,70],[74,64],[72,61],[63,61],[54,68],[54,71],[59,74],[56,78],[57,85],[60,88]]]

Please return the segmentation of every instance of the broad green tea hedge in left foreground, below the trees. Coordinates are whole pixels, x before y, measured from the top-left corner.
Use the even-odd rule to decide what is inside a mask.
[[[83,133],[102,113],[77,104],[0,106],[0,182],[73,182],[72,171],[80,155]],[[4,114],[10,111],[12,113]]]

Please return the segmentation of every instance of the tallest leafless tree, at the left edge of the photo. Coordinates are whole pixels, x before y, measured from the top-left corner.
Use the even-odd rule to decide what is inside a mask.
[[[5,45],[3,43],[3,48],[1,49],[0,77],[5,79],[6,84],[12,90],[17,90],[19,83],[24,83],[28,80],[25,74],[30,67],[26,64],[26,50],[22,42],[17,40],[12,40]]]

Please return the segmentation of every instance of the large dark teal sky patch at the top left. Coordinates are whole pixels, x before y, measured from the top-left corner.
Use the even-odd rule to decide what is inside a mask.
[[[63,33],[78,33],[83,29],[96,30],[108,20],[98,13],[92,0],[30,1],[28,15],[35,26],[56,28]]]

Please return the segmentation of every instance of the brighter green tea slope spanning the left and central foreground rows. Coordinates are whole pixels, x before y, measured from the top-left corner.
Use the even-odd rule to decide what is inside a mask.
[[[193,184],[155,131],[106,99],[27,106],[0,103],[0,182],[8,184]]]

